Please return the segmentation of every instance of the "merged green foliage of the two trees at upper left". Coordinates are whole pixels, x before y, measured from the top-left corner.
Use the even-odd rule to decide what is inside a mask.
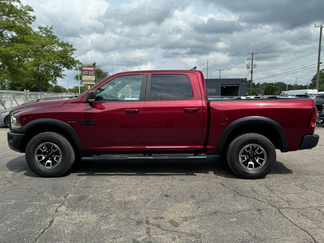
[[[20,0],[0,1],[0,88],[47,91],[79,62],[75,49],[53,33],[53,27],[31,24],[32,8]]]

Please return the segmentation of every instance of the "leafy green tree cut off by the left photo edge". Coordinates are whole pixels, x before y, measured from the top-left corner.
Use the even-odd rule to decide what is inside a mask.
[[[19,0],[0,1],[0,88],[7,89],[10,80],[30,80],[24,64],[32,45],[35,17],[32,8]]]

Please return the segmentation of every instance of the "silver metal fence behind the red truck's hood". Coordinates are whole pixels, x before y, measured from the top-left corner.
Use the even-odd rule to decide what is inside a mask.
[[[0,90],[0,112],[12,109],[17,105],[21,105],[32,100],[51,97],[70,97],[73,95],[75,94]]]

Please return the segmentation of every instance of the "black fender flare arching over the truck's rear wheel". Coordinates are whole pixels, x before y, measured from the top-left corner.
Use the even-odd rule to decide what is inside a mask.
[[[237,128],[238,126],[248,124],[248,123],[259,123],[259,124],[266,124],[271,126],[272,128],[275,129],[275,131],[279,134],[281,143],[282,143],[282,150],[281,152],[287,152],[288,151],[288,140],[286,133],[284,129],[278,124],[275,120],[270,119],[268,117],[264,116],[248,116],[248,117],[242,117],[239,118],[235,121],[233,121],[228,127],[224,130],[223,134],[221,135],[219,142],[218,142],[218,147],[217,151],[221,152],[224,149],[226,139],[230,135],[230,133]]]

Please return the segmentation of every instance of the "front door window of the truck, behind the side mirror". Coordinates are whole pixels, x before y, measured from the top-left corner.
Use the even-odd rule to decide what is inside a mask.
[[[116,77],[97,89],[96,101],[139,100],[142,80],[142,74]]]

